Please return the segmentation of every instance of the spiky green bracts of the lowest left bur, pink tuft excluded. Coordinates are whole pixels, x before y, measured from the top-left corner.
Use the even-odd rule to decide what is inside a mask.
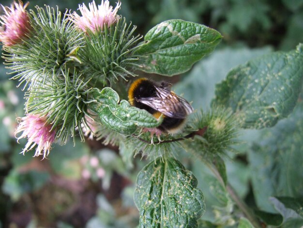
[[[57,129],[56,136],[62,144],[77,131],[84,140],[81,122],[87,114],[87,104],[93,101],[90,91],[81,75],[65,69],[26,93],[26,112],[47,115],[47,122]]]

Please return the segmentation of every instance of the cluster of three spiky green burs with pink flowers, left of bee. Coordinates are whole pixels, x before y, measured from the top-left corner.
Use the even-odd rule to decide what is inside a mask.
[[[45,157],[53,142],[64,144],[69,136],[77,134],[84,140],[93,130],[88,119],[94,117],[87,112],[87,104],[94,101],[91,90],[134,76],[133,68],[139,67],[135,51],[141,37],[134,36],[135,26],[117,16],[120,5],[119,1],[113,8],[103,0],[97,6],[93,1],[89,9],[84,4],[79,6],[82,16],[68,11],[61,14],[58,7],[49,6],[36,6],[27,12],[27,5],[21,1],[11,8],[3,7],[6,14],[1,16],[1,31],[5,34],[14,27],[11,17],[27,18],[17,20],[24,24],[14,27],[24,27],[17,32],[26,32],[18,34],[18,42],[10,45],[1,38],[6,65],[14,73],[12,78],[27,89],[26,116],[43,118],[44,126],[51,126],[48,130],[55,135],[46,147],[33,139],[31,131],[25,129],[29,126],[26,119],[22,119],[18,132],[23,130],[21,136],[29,139],[23,152],[38,145],[35,155]],[[88,127],[84,132],[83,126]],[[100,136],[100,130],[96,135]]]

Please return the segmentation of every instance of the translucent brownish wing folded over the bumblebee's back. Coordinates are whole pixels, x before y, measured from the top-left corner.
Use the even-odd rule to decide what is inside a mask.
[[[193,112],[192,106],[185,99],[166,89],[155,88],[157,97],[140,98],[138,102],[172,118],[183,119]]]

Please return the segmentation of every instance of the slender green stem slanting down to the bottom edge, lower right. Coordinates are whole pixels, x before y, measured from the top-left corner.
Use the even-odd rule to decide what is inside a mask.
[[[214,165],[209,164],[210,169],[216,176],[216,178],[221,182],[221,184],[225,187],[224,181],[221,178],[221,175],[219,174],[218,170]],[[250,223],[255,227],[255,228],[261,228],[260,223],[258,222],[258,219],[255,217],[254,213],[252,210],[247,206],[247,204],[241,199],[241,197],[236,193],[234,188],[227,182],[226,185],[226,190],[230,197],[234,200],[234,202],[238,205],[240,210],[244,213],[246,218],[250,221]]]

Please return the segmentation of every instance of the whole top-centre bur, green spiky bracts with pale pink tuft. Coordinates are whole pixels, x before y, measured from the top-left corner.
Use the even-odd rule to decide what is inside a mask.
[[[120,6],[120,1],[114,9],[108,0],[102,0],[98,6],[92,1],[89,8],[79,5],[82,16],[76,12],[69,15],[75,27],[84,32],[83,47],[77,51],[76,58],[81,73],[88,77],[92,86],[110,85],[119,78],[135,76],[132,69],[139,67],[139,56],[134,52],[141,36],[134,36],[136,26],[117,16]]]

